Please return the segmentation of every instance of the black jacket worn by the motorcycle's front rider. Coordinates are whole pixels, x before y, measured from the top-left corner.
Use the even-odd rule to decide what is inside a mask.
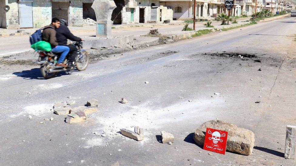
[[[81,38],[74,36],[66,25],[61,24],[61,26],[56,29],[56,40],[58,41],[59,46],[66,46],[67,39],[81,41]]]

